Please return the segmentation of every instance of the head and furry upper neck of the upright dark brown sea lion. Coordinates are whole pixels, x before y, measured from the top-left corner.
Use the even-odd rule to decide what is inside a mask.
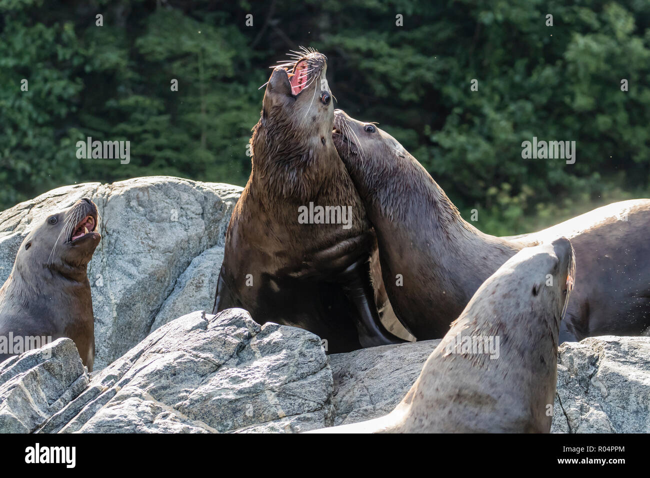
[[[304,204],[326,176],[337,173],[331,139],[333,105],[327,58],[313,49],[274,67],[250,139],[252,182],[258,194]]]

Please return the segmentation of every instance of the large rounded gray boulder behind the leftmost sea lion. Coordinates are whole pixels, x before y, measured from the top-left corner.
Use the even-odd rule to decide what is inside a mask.
[[[91,198],[103,217],[103,238],[88,266],[94,367],[99,370],[146,338],[154,324],[193,310],[212,310],[214,289],[190,296],[190,289],[200,288],[198,279],[183,272],[211,248],[216,247],[210,258],[222,258],[219,248],[240,191],[237,186],[166,176],[54,189],[0,213],[0,284],[32,222],[79,198]],[[220,265],[211,265],[214,274]],[[216,277],[206,274],[202,287],[207,291]]]

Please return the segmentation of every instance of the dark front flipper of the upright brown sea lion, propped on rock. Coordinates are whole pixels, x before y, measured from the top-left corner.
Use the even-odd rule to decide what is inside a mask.
[[[388,332],[379,319],[374,302],[374,290],[370,284],[370,264],[367,259],[361,259],[350,265],[338,278],[346,296],[352,300],[357,309],[355,326],[361,347],[406,342]]]

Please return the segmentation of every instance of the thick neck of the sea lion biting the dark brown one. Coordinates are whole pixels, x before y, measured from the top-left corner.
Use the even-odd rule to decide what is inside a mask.
[[[439,338],[448,330],[446,317],[457,317],[484,278],[523,246],[484,234],[463,220],[443,189],[403,148],[396,150],[385,138],[359,138],[359,150],[348,153],[347,145],[339,143],[337,151],[374,226],[391,305],[415,337]],[[408,259],[414,256],[417,261]],[[415,307],[411,295],[422,298]],[[409,320],[415,317],[413,308],[429,320]]]

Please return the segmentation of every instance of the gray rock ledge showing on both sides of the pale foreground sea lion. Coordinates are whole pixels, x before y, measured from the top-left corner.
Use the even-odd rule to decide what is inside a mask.
[[[331,355],[334,424],[393,410],[438,342]],[[551,432],[650,432],[650,338],[606,336],[560,345]]]

